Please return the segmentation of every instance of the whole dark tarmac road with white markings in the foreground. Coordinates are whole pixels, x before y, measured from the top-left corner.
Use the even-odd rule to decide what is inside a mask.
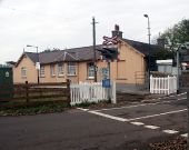
[[[186,137],[186,94],[102,110],[1,117],[0,150],[130,150]]]

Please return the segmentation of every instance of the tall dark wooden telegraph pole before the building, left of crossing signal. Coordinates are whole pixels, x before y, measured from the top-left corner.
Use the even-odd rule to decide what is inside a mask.
[[[92,36],[93,36],[93,71],[94,71],[94,82],[97,82],[97,54],[96,54],[96,19],[92,18]]]

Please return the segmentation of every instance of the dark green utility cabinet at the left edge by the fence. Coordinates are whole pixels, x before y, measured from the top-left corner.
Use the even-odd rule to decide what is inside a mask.
[[[0,101],[10,100],[13,97],[12,68],[0,67]]]

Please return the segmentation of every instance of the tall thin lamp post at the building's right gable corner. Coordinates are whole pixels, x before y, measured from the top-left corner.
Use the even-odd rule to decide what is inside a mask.
[[[150,57],[151,57],[151,52],[150,52],[150,19],[149,19],[149,16],[148,14],[143,14],[145,18],[148,19],[148,42],[149,42],[149,52],[148,52],[148,78],[149,78],[149,89],[150,89]]]

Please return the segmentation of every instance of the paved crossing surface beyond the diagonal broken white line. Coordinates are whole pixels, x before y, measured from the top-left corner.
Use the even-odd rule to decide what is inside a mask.
[[[187,111],[186,93],[159,98],[152,103],[88,110],[88,112],[103,118],[182,137],[187,137]]]

